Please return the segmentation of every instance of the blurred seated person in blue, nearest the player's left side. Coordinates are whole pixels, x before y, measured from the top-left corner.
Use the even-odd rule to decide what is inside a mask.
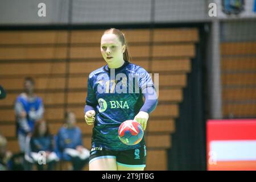
[[[81,170],[89,162],[90,152],[82,146],[82,133],[75,124],[75,114],[67,112],[64,126],[57,134],[56,146],[61,159],[71,161],[73,170]]]

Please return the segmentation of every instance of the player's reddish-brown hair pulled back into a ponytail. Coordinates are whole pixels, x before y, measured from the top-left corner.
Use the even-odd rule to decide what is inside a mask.
[[[125,52],[123,52],[123,59],[130,62],[131,61],[131,55],[128,51],[128,45],[127,45],[127,42],[126,42],[126,39],[125,39],[125,35],[123,34],[122,31],[116,29],[116,28],[110,28],[108,30],[106,30],[104,32],[104,34],[114,34],[118,37],[119,41],[122,43],[122,46],[125,45],[126,46],[126,49],[125,49]],[[104,35],[103,34],[103,35]]]

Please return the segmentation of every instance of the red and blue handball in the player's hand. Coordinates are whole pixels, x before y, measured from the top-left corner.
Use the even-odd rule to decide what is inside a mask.
[[[118,129],[118,137],[122,143],[133,146],[141,142],[144,131],[142,126],[133,120],[123,122]]]

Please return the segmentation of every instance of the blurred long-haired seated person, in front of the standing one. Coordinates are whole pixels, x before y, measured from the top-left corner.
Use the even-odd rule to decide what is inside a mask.
[[[53,170],[54,164],[59,160],[53,151],[53,137],[49,133],[46,121],[39,120],[35,123],[35,129],[30,139],[30,157],[37,164],[38,170],[44,169],[47,164],[47,170]],[[44,164],[43,164],[44,163]]]

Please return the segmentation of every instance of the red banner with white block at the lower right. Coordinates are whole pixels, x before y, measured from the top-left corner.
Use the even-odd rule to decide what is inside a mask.
[[[256,119],[207,121],[208,170],[256,170]]]

